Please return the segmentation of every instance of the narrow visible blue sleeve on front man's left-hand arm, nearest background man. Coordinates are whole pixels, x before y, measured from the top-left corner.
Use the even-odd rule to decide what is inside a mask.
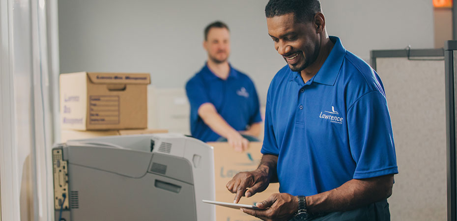
[[[271,105],[267,98],[265,107],[265,131],[263,136],[263,145],[260,150],[262,154],[279,155],[279,148],[276,142],[275,132],[273,129],[273,122],[271,117]]]

